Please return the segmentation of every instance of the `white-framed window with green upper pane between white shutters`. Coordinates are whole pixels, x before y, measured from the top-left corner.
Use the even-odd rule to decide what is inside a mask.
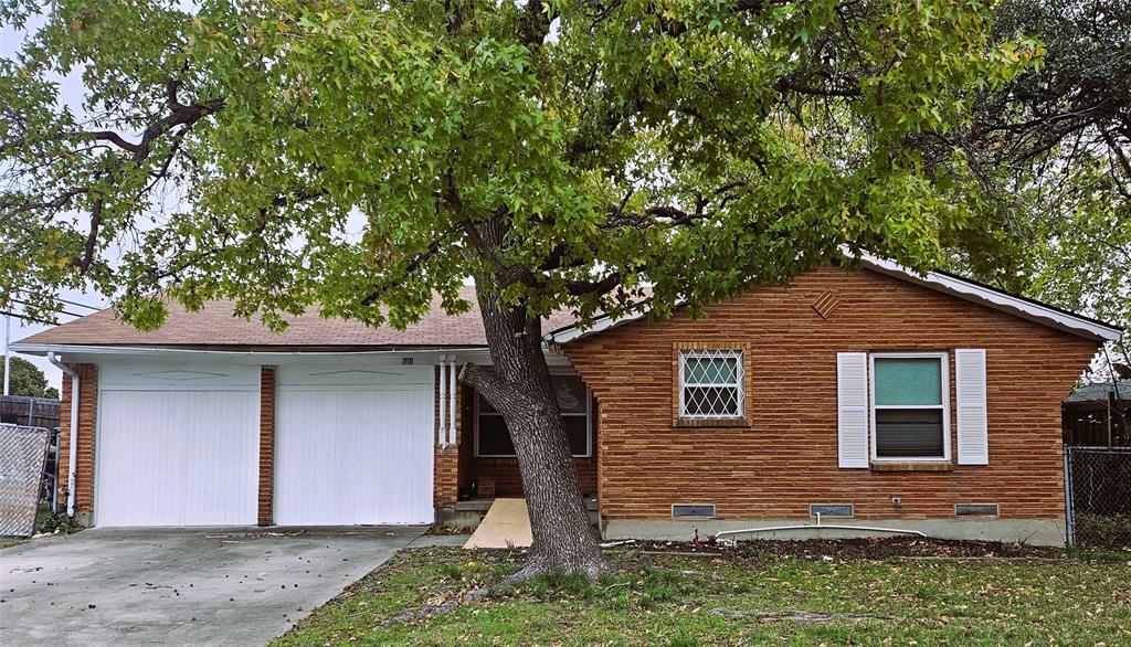
[[[942,362],[939,356],[873,359],[877,458],[946,457]]]

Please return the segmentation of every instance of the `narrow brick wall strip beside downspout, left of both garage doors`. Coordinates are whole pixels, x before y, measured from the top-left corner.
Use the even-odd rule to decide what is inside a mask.
[[[94,428],[97,412],[98,366],[94,364],[71,364],[78,373],[78,459],[75,466],[75,509],[79,512],[94,510]],[[70,465],[70,420],[72,380],[63,376],[62,406],[59,411],[59,499],[66,503],[67,469]]]

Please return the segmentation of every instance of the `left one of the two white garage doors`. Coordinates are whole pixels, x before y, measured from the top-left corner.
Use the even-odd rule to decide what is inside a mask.
[[[95,451],[100,526],[253,525],[259,394],[184,390],[192,371],[132,369],[144,389],[103,388]],[[107,376],[107,373],[110,373]],[[198,380],[227,378],[201,371]],[[174,383],[162,385],[167,376]],[[211,376],[211,377],[209,377]],[[100,376],[113,379],[113,371]],[[132,385],[139,386],[139,385]],[[167,390],[161,387],[165,386]],[[202,389],[193,383],[191,388]],[[258,390],[258,389],[257,389]]]

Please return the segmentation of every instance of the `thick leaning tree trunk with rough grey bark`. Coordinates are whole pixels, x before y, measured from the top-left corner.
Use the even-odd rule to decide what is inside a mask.
[[[469,364],[460,379],[502,414],[515,442],[534,544],[529,561],[509,584],[546,571],[584,572],[593,579],[607,564],[589,524],[566,423],[550,385],[542,321],[523,305],[500,304],[489,281],[476,277],[476,293],[494,370]]]

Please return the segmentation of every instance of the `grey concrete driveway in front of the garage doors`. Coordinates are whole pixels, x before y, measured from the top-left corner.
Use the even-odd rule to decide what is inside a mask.
[[[101,529],[0,550],[6,645],[264,645],[423,527]]]

